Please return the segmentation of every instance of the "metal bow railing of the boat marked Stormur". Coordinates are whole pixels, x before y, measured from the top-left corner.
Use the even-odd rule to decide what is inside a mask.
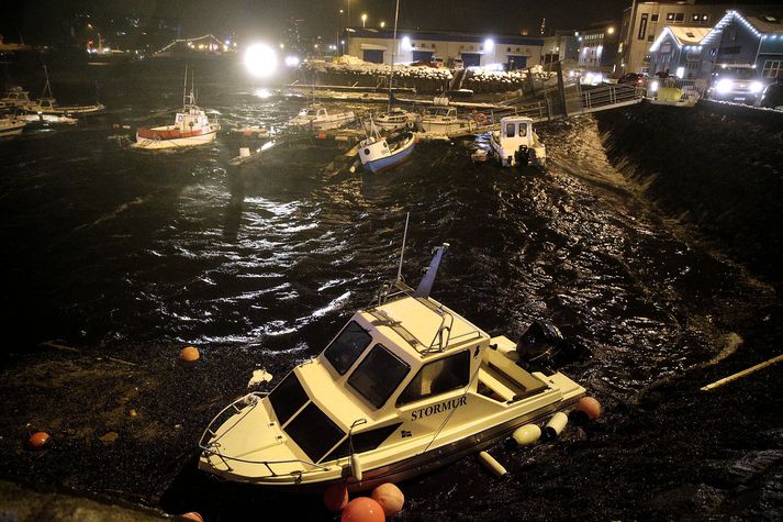
[[[209,423],[209,425],[202,433],[201,438],[199,438],[199,448],[201,448],[201,453],[205,457],[215,456],[215,457],[220,458],[228,471],[234,470],[234,468],[232,468],[230,462],[265,466],[267,468],[267,470],[269,471],[269,475],[272,477],[279,477],[282,475],[295,475],[295,476],[298,476],[298,480],[301,480],[301,477],[309,473],[328,471],[329,467],[327,467],[327,466],[322,466],[320,464],[311,463],[310,460],[304,460],[301,458],[290,458],[290,459],[283,459],[283,460],[254,460],[254,459],[249,459],[249,458],[232,457],[231,455],[221,453],[220,441],[210,442],[211,438],[213,438],[217,435],[217,432],[215,432],[212,429],[212,426],[214,426],[219,422],[220,422],[220,425],[222,425],[223,422],[225,422],[225,420],[227,420],[226,414],[227,414],[227,417],[232,417],[236,413],[242,412],[247,407],[249,407],[251,410],[251,409],[256,408],[260,403],[261,399],[264,399],[268,395],[269,395],[268,392],[254,391],[251,393],[248,393],[246,396],[238,398],[231,404],[223,408],[214,417],[214,419],[212,419],[212,421]],[[242,404],[242,408],[237,404]],[[307,470],[303,470],[303,471],[298,470],[298,471],[292,471],[292,473],[287,473],[287,474],[278,474],[275,471],[273,466],[281,466],[281,465],[288,465],[288,464],[301,464],[303,466],[309,466],[312,469],[307,469]]]

